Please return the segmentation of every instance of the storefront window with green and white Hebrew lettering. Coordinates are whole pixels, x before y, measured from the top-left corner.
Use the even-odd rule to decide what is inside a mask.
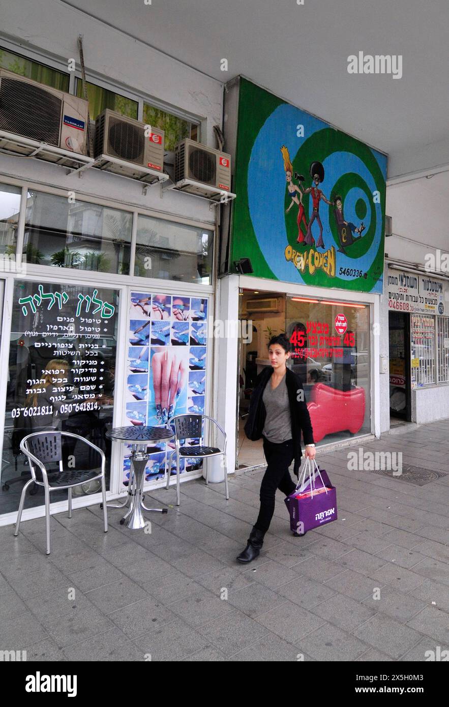
[[[112,424],[118,297],[117,291],[106,288],[16,281],[0,514],[18,509],[23,483],[30,479],[20,450],[21,440],[30,433],[67,431],[91,440],[105,451],[109,474],[110,443],[105,431]],[[98,458],[78,440],[63,445],[64,469],[97,468]],[[57,471],[58,465],[49,469]],[[27,508],[44,503],[43,487],[33,486]],[[98,490],[97,482],[92,482],[76,493]],[[66,490],[55,491],[51,500],[66,498]]]

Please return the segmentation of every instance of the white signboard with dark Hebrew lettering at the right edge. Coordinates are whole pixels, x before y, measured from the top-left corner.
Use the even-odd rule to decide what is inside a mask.
[[[412,314],[447,315],[449,283],[421,273],[389,269],[388,309]]]

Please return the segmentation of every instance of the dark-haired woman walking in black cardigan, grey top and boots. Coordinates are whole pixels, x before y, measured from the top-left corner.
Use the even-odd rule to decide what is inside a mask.
[[[250,411],[245,425],[251,440],[263,437],[267,460],[260,486],[260,511],[252,527],[247,546],[238,555],[239,562],[251,562],[260,553],[264,534],[274,513],[276,489],[289,496],[296,489],[288,467],[295,460],[293,471],[298,477],[301,464],[301,431],[305,456],[313,460],[315,444],[310,415],[305,404],[301,378],[286,367],[291,345],[286,334],[272,337],[268,344],[269,361],[257,376],[252,392]]]

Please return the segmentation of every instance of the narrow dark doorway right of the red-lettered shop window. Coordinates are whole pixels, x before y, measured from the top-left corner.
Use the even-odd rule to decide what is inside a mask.
[[[412,420],[410,382],[410,315],[388,312],[390,343],[390,426]]]

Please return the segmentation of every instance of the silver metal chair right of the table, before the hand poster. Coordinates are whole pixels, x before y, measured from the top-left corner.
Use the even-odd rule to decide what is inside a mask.
[[[218,429],[221,431],[223,434],[223,450],[219,449],[218,447],[206,447],[203,445],[203,421],[204,420],[210,420]],[[209,417],[209,415],[191,415],[191,414],[185,414],[185,415],[175,415],[170,420],[170,423],[168,426],[170,426],[171,423],[174,423],[175,425],[175,449],[173,452],[170,453],[169,456],[169,462],[168,462],[168,477],[167,477],[167,485],[165,486],[166,489],[168,489],[168,486],[170,484],[170,475],[171,475],[171,462],[172,462],[172,457],[174,454],[176,454],[176,505],[180,505],[180,458],[181,457],[191,457],[192,459],[205,459],[206,457],[218,457],[222,456],[223,457],[223,468],[224,468],[224,481],[225,481],[225,489],[226,489],[226,498],[229,498],[229,491],[228,491],[228,469],[226,467],[226,443],[227,443],[227,436],[226,432],[223,430],[223,428],[218,424],[216,420],[214,420],[213,417]],[[180,441],[181,440],[186,440],[186,439],[197,439],[199,438],[199,445],[192,445],[190,447],[188,446],[181,446]],[[206,464],[206,484],[209,484],[209,473],[207,469],[207,464]]]

